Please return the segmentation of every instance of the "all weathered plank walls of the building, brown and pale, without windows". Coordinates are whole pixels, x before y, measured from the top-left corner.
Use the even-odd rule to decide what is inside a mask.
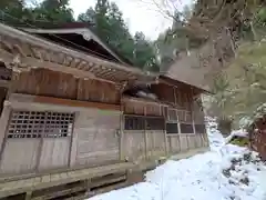
[[[114,86],[112,83],[78,80],[72,76],[52,71],[50,76],[48,74],[50,73],[43,73],[42,70],[22,72],[17,77],[16,84],[12,87],[16,92],[31,94],[109,103],[120,101],[117,93],[111,93],[116,91],[113,90]],[[38,83],[37,78],[40,83]],[[23,82],[23,84],[20,86],[20,82]],[[52,90],[54,86],[58,86],[61,90],[57,87]],[[171,99],[170,97],[168,101],[174,100],[175,103],[123,98],[122,110],[60,106],[59,103],[52,103],[53,101],[45,103],[45,99],[41,103],[37,103],[28,97],[19,98],[16,102],[11,102],[11,106],[4,107],[3,112],[6,114],[2,116],[1,126],[7,127],[9,113],[12,109],[69,111],[75,113],[73,134],[58,139],[11,140],[4,139],[4,131],[0,132],[2,136],[0,141],[6,140],[6,142],[1,142],[3,146],[0,173],[27,173],[59,168],[93,167],[120,162],[121,159],[122,161],[134,162],[146,161],[162,156],[207,147],[206,133],[196,133],[195,127],[190,133],[178,131],[171,134],[167,133],[166,128],[162,130],[124,130],[123,112],[124,114],[142,117],[161,117],[165,119],[166,123],[175,122],[178,130],[181,123],[202,124],[204,114],[200,110],[201,102],[192,103],[193,92],[184,94],[177,91],[177,88],[166,91],[170,92],[171,90],[174,91],[174,98]]]

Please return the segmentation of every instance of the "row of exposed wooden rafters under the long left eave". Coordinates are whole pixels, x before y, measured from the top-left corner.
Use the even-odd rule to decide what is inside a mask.
[[[79,53],[79,52],[76,52]],[[72,73],[78,78],[93,78],[110,81],[117,86],[135,80],[152,81],[154,76],[115,68],[111,62],[79,58],[50,47],[0,33],[0,60],[13,70],[30,70],[31,68],[47,68],[54,71]],[[120,88],[120,87],[119,87]]]

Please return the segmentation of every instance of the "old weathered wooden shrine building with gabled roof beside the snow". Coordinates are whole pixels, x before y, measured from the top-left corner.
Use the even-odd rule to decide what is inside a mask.
[[[208,148],[204,90],[130,66],[82,23],[0,23],[0,198],[80,181],[95,194],[98,177]]]

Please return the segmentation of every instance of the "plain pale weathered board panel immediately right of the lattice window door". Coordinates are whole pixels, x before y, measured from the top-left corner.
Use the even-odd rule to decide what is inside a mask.
[[[119,160],[120,112],[80,111],[74,123],[71,166],[98,166]]]

